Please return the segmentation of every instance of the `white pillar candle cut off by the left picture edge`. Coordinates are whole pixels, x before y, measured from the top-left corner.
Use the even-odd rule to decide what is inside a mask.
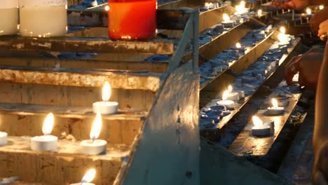
[[[0,1],[0,36],[17,34],[18,0]]]

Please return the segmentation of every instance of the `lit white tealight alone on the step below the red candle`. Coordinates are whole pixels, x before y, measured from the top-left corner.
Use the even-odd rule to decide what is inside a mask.
[[[93,103],[93,112],[100,114],[115,114],[117,112],[118,102],[109,102],[111,98],[111,85],[104,83],[102,88],[102,102]]]

